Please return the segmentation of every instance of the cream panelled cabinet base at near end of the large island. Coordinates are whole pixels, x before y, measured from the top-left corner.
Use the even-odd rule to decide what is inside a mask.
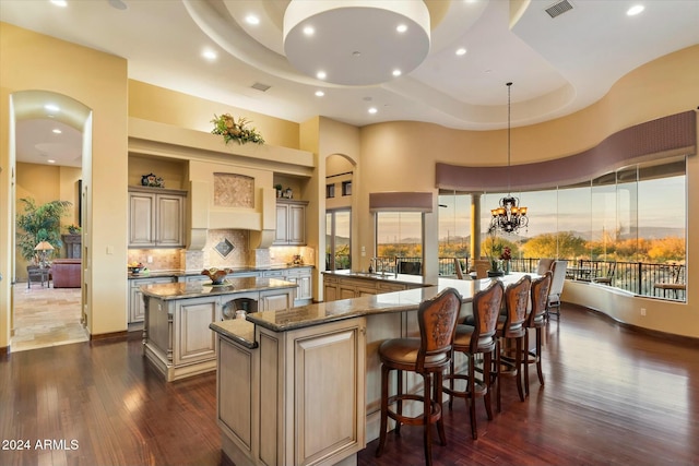
[[[217,337],[218,426],[233,463],[333,465],[366,446],[364,318],[258,326],[258,348]]]

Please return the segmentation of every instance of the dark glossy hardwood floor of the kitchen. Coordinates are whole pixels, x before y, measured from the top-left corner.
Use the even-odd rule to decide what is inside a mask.
[[[561,315],[545,330],[546,385],[531,371],[522,403],[506,380],[502,413],[488,421],[478,404],[477,441],[463,403],[445,407],[449,443],[434,446],[435,464],[698,465],[699,345],[577,307]],[[220,465],[215,405],[214,373],[165,383],[138,332],[9,354],[0,357],[0,465]],[[389,434],[380,458],[376,444],[360,465],[423,464],[419,428]]]

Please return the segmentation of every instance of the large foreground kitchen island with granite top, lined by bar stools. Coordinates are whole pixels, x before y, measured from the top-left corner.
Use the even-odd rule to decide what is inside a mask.
[[[224,453],[237,466],[355,464],[379,434],[381,342],[418,336],[419,303],[447,287],[465,316],[490,279],[438,282],[212,323]],[[404,391],[419,392],[422,379],[405,375]]]

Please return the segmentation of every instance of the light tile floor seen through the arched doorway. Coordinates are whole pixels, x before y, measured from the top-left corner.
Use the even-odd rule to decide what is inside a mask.
[[[13,285],[14,335],[11,351],[87,342],[80,322],[80,288],[42,287],[39,283]]]

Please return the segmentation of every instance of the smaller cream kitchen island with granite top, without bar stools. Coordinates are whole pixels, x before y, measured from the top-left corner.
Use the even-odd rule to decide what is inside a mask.
[[[212,322],[236,311],[273,311],[294,306],[296,284],[275,278],[227,278],[142,286],[143,354],[168,382],[216,369]]]

